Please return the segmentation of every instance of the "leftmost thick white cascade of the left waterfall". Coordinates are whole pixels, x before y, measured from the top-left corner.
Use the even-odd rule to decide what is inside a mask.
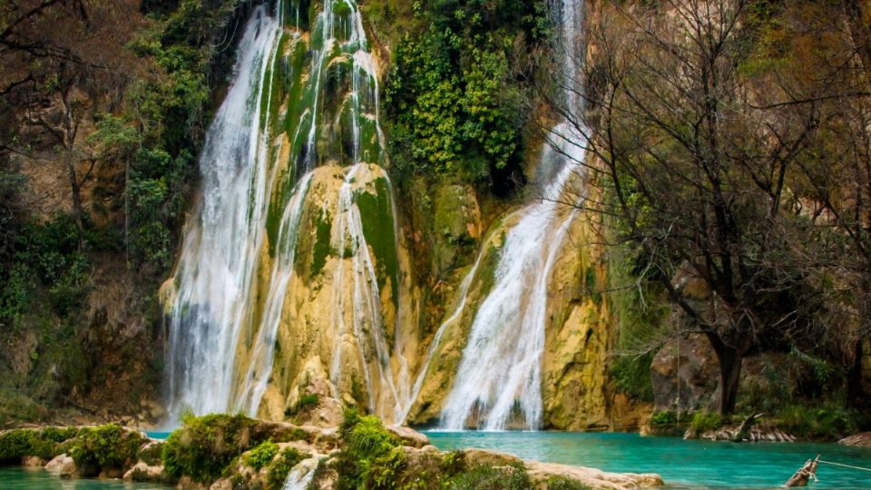
[[[260,101],[279,33],[277,18],[256,7],[233,83],[206,135],[200,202],[184,231],[169,312],[164,389],[171,422],[185,408],[198,414],[230,408],[239,325],[250,316],[263,238],[268,128],[259,123]]]

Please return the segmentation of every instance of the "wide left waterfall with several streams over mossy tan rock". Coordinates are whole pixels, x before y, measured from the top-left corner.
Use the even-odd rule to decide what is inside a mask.
[[[168,425],[177,423],[184,409],[259,413],[275,381],[279,328],[304,321],[289,319],[287,310],[296,299],[292,285],[301,280],[298,246],[313,214],[332,222],[332,310],[324,316],[337,333],[331,352],[319,353],[327,358],[331,395],[347,393],[352,374],[361,373],[373,412],[396,418],[408,403],[396,204],[381,169],[387,155],[377,60],[368,51],[354,0],[326,0],[315,19],[301,18],[302,6],[299,0],[279,2],[271,15],[264,5],[255,8],[230,90],[207,134],[200,203],[186,224],[181,257],[168,281],[174,294],[164,299]],[[282,25],[284,18],[289,25]],[[308,34],[301,23],[310,25]],[[322,167],[329,171],[318,172]],[[336,176],[344,181],[324,198]],[[315,191],[326,201],[318,202]],[[377,217],[361,212],[367,198],[383,203],[377,211],[384,212]],[[371,220],[380,220],[389,232],[396,261],[388,268],[396,303],[396,321],[389,326],[382,305],[385,266],[383,258],[373,257],[376,245],[367,235]],[[360,358],[353,373],[343,364],[348,345]]]

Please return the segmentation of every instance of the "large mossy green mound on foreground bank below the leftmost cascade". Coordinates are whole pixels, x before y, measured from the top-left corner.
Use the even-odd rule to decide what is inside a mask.
[[[176,478],[187,475],[209,483],[237,456],[262,442],[252,436],[257,421],[249,417],[188,414],[181,421],[181,428],[172,432],[161,451],[164,470]]]

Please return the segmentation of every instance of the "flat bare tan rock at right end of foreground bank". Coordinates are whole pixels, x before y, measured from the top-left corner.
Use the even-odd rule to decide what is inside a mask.
[[[624,490],[665,485],[660,475],[652,473],[608,473],[596,468],[539,463],[536,461],[527,461],[525,466],[526,471],[535,484],[535,488],[540,490],[546,490],[547,480],[553,477],[573,480],[582,485],[590,486],[593,489]]]

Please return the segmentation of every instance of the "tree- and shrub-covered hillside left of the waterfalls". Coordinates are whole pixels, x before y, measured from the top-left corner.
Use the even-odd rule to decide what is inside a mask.
[[[88,377],[103,376],[100,345],[113,338],[89,332],[99,326],[84,325],[83,311],[104,275],[117,281],[117,270],[136,270],[146,299],[124,315],[150,321],[215,89],[230,70],[233,21],[247,5],[26,0],[0,8],[8,26],[0,39],[0,417],[35,418],[41,404],[64,406],[88,394]],[[22,348],[30,361],[16,358]],[[143,371],[155,368],[152,346],[124,348],[133,355],[114,368],[139,363],[137,382],[151,383]]]

